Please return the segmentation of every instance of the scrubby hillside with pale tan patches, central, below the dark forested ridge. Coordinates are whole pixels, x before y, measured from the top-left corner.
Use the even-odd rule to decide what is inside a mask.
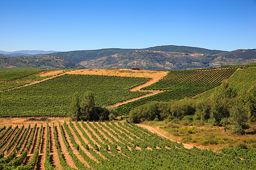
[[[90,69],[113,68],[130,69],[139,67],[146,70],[180,70],[210,67],[213,56],[200,53],[161,52],[151,50],[134,50],[111,56],[80,62]]]

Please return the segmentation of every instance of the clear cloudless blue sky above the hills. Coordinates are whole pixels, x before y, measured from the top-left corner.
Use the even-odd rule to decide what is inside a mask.
[[[0,0],[0,50],[256,48],[256,0]]]

